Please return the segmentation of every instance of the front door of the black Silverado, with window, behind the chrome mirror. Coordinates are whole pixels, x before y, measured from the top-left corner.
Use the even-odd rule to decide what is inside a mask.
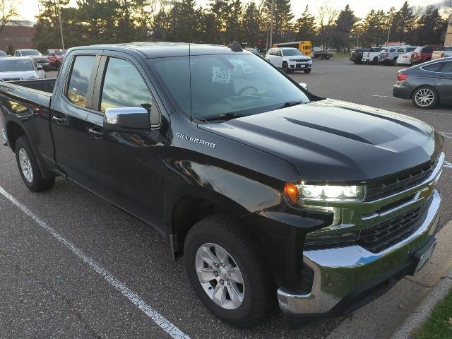
[[[165,166],[162,131],[165,128],[123,133],[107,131],[103,127],[107,108],[141,106],[160,121],[147,73],[131,57],[102,57],[97,74],[97,99],[93,100],[97,110],[88,114],[93,191],[159,227],[162,225]]]

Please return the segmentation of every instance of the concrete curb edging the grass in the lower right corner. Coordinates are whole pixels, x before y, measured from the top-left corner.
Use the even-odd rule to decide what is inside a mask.
[[[391,339],[411,339],[413,331],[420,328],[427,321],[436,304],[446,297],[452,288],[452,270],[441,277],[432,287],[422,302],[412,311],[405,322],[396,330]]]

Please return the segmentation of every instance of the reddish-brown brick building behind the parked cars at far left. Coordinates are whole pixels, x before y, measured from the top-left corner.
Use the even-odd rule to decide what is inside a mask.
[[[6,25],[0,33],[0,49],[6,51],[8,46],[13,49],[33,48],[31,38],[36,31],[33,25],[31,21],[16,21]]]

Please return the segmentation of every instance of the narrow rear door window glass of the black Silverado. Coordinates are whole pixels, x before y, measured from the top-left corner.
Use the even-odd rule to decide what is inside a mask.
[[[86,95],[94,64],[94,55],[80,55],[73,62],[66,95],[78,106],[86,107]]]

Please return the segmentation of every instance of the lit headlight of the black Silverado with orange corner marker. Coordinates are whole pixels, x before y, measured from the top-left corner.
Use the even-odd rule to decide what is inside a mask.
[[[303,201],[362,201],[366,196],[363,185],[285,184],[285,194],[292,203]]]

